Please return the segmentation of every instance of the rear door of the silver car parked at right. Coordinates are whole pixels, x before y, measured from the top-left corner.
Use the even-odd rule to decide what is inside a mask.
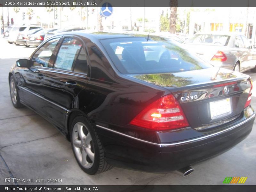
[[[235,36],[235,50],[236,60],[240,60],[240,71],[244,71],[248,68],[248,50],[245,49],[244,42],[240,35]]]

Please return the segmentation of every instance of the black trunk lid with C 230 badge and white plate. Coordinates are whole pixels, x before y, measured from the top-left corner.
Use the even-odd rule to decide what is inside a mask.
[[[223,68],[129,76],[170,90],[197,130],[238,118],[251,87],[250,76]]]

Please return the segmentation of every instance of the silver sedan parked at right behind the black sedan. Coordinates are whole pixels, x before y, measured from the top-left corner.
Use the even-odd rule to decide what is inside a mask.
[[[241,34],[195,34],[184,44],[213,66],[256,72],[256,49]]]

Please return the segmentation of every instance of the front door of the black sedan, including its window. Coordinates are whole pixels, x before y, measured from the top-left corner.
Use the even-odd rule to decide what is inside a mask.
[[[44,74],[43,71],[53,65],[54,50],[60,38],[44,43],[31,56],[32,67],[21,71],[23,100],[36,112],[44,115]]]

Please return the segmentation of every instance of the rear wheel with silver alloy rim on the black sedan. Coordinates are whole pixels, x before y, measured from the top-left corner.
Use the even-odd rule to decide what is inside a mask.
[[[94,175],[112,168],[105,160],[100,139],[86,116],[77,116],[70,132],[74,156],[84,172]]]

